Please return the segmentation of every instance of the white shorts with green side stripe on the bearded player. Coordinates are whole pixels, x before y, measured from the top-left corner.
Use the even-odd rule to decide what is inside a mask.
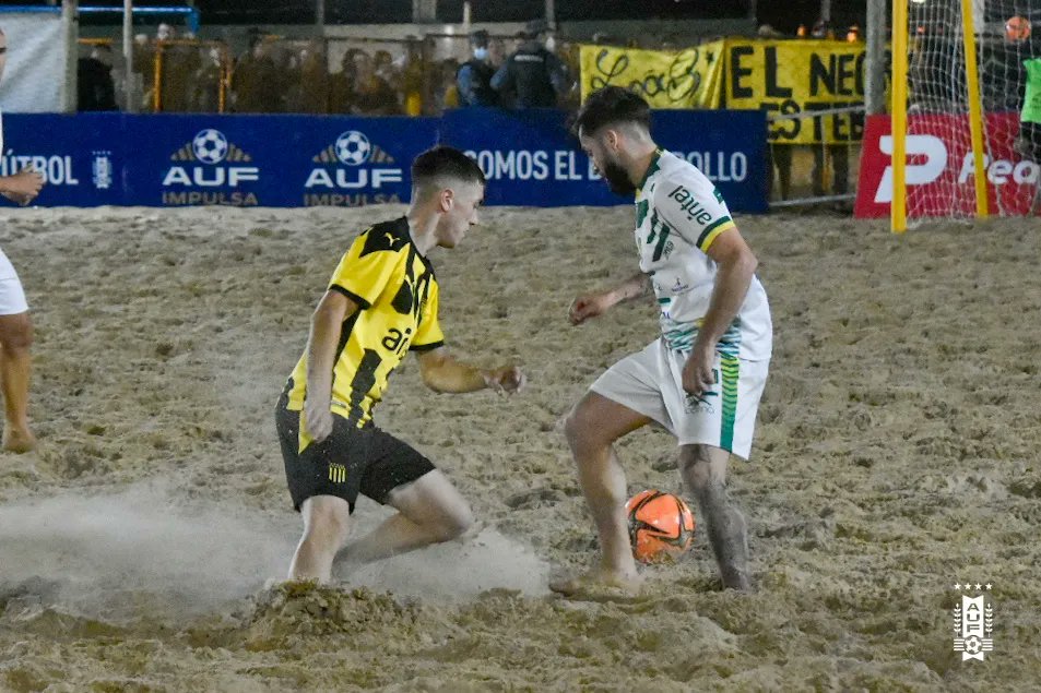
[[[712,445],[747,459],[770,361],[717,353],[717,384],[700,398],[683,389],[686,361],[686,354],[655,339],[608,368],[590,390],[654,419],[681,445]]]

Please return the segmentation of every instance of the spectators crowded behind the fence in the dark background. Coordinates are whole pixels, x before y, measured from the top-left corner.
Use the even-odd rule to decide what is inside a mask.
[[[776,33],[760,36],[780,37]],[[813,37],[835,35],[818,35],[815,26]],[[861,40],[857,32],[850,32],[845,38]],[[492,34],[487,36],[485,60],[498,70],[529,39],[531,35],[523,33]],[[591,43],[677,47],[649,37],[619,40],[600,36]],[[80,110],[438,116],[462,105],[457,77],[460,67],[472,57],[472,48],[470,37],[460,34],[287,38],[252,33],[248,47],[235,55],[224,41],[179,38],[168,25],[161,25],[155,37],[135,37],[129,75],[118,41],[81,41]],[[567,74],[567,85],[558,89],[556,105],[572,109],[580,98],[579,45],[558,39],[552,48]],[[989,40],[981,50],[984,108],[1017,108],[1020,63],[1024,56],[1039,55],[1037,39],[1015,45]],[[950,75],[950,63],[957,65],[957,56],[958,47],[942,33],[916,37],[911,56],[912,109],[950,112],[965,107],[963,92],[936,88],[957,82]],[[501,105],[510,105],[508,96]],[[852,196],[850,177],[856,170],[859,142],[801,147],[773,143],[770,148],[774,200],[799,196],[800,191],[814,198]]]

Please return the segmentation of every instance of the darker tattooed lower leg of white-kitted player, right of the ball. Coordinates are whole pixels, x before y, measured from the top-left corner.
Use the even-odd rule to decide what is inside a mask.
[[[723,587],[748,592],[748,530],[744,516],[726,498],[729,461],[727,451],[711,445],[679,449],[679,474],[705,521]]]

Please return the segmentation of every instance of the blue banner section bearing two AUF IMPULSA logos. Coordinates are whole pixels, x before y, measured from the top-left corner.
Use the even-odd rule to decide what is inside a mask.
[[[127,204],[363,206],[407,201],[427,118],[125,116]]]

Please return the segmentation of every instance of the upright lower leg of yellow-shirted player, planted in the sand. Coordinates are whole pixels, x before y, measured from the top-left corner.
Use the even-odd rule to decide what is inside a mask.
[[[300,504],[304,536],[289,564],[289,580],[329,582],[332,561],[351,531],[351,506],[335,495],[312,495]]]

